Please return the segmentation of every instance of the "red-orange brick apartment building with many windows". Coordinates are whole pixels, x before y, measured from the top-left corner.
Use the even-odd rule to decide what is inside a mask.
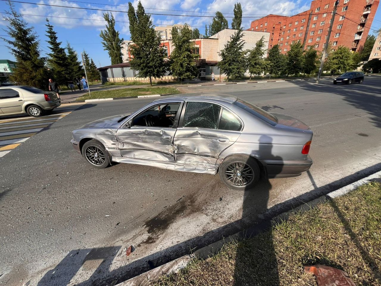
[[[290,50],[297,41],[304,48],[314,47],[322,51],[328,36],[336,0],[314,0],[311,8],[294,16],[270,14],[251,22],[251,31],[270,32],[269,48],[279,44],[282,53]],[[332,50],[345,46],[361,51],[379,0],[339,0],[329,43]]]

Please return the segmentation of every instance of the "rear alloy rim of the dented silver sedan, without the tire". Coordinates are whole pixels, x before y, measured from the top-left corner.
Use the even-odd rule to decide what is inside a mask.
[[[234,162],[227,166],[225,177],[233,186],[246,186],[254,179],[254,172],[251,167],[244,162]]]

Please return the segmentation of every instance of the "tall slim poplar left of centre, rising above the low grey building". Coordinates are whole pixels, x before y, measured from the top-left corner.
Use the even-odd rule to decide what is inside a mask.
[[[104,13],[103,18],[106,21],[106,29],[101,31],[99,37],[101,37],[102,45],[104,50],[107,51],[111,58],[111,64],[123,63],[122,60],[122,46],[123,38],[119,37],[119,32],[115,30],[115,19],[114,15],[109,13]]]

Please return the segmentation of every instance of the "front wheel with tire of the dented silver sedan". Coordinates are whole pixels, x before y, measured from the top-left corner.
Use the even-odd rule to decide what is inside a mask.
[[[82,146],[82,156],[86,163],[98,169],[107,168],[110,165],[110,155],[104,146],[97,140],[87,141]]]

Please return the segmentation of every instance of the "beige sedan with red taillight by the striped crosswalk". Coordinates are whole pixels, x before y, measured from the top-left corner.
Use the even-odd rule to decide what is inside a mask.
[[[38,117],[60,105],[54,92],[25,85],[0,87],[0,116],[27,113]]]

